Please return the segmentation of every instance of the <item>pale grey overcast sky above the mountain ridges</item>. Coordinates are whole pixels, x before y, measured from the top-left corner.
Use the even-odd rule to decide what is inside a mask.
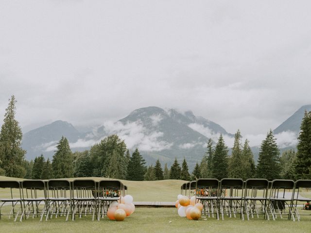
[[[0,118],[14,94],[22,127],[95,125],[158,106],[229,133],[267,133],[311,104],[310,9],[310,0],[0,0]]]

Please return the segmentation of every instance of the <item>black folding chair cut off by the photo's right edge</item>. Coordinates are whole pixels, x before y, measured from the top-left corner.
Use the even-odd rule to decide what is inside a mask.
[[[297,180],[295,182],[294,188],[294,198],[292,203],[292,210],[294,209],[294,217],[297,216],[297,220],[300,221],[300,215],[311,215],[311,214],[300,214],[297,208],[297,202],[301,201],[303,204],[310,203],[311,198],[302,197],[299,192],[301,193],[302,189],[304,188],[311,188],[311,180]]]

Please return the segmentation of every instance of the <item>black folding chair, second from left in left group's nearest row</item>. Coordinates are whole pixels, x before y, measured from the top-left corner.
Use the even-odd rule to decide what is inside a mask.
[[[47,210],[45,182],[42,180],[26,180],[21,183],[21,187],[23,212],[19,221],[22,221],[23,216],[25,219],[29,216],[33,216],[33,218],[40,216],[40,221],[42,221]]]

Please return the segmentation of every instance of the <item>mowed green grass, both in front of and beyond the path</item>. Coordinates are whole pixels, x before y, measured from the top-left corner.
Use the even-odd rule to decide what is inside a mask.
[[[0,180],[15,178],[0,177]],[[90,178],[96,181],[102,178]],[[73,179],[70,179],[73,180]],[[128,194],[134,197],[134,201],[175,201],[180,193],[180,186],[184,181],[122,181],[128,186]],[[311,191],[306,190],[305,196],[310,196]],[[0,197],[10,195],[8,189],[0,188]],[[8,207],[4,207],[5,209]],[[304,211],[311,214],[311,211]],[[311,216],[302,216],[302,221],[293,222],[287,219],[277,218],[276,221],[266,221],[263,217],[242,221],[240,217],[217,220],[215,218],[202,217],[198,221],[179,217],[176,208],[136,208],[135,213],[122,222],[116,222],[104,217],[100,221],[92,221],[90,216],[77,218],[75,221],[65,221],[64,217],[58,217],[49,221],[40,222],[38,218],[14,222],[13,219],[4,217],[0,220],[0,233],[78,233],[78,232],[230,232],[230,233],[310,233]]]

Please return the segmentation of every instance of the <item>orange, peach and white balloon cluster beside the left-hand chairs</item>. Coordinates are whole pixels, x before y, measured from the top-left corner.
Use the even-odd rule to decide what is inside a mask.
[[[123,221],[125,217],[130,216],[134,211],[133,197],[126,195],[125,197],[120,197],[120,200],[110,203],[107,217],[111,220]]]

